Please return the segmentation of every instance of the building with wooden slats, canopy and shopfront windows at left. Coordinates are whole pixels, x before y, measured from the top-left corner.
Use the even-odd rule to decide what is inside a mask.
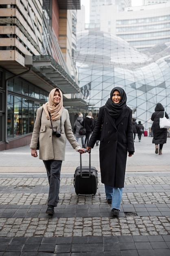
[[[53,88],[66,108],[86,106],[74,67],[76,9],[80,0],[0,1],[0,150],[30,143]]]

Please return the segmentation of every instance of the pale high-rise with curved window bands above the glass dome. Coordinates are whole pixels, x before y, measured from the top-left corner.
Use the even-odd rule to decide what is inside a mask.
[[[170,41],[170,2],[126,7],[103,5],[100,30],[119,36],[139,50]]]

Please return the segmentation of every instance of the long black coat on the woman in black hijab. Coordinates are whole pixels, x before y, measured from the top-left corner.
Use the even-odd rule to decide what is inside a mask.
[[[87,146],[94,147],[100,135],[100,171],[102,183],[117,187],[124,187],[127,151],[135,152],[133,144],[132,110],[125,106],[115,121],[105,111],[105,106],[99,110],[98,119]],[[103,120],[103,124],[102,124]]]

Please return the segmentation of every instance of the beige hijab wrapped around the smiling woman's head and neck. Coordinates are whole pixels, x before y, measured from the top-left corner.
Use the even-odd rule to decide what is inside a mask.
[[[60,100],[59,104],[57,104],[57,105],[53,101],[54,93],[56,90],[59,91],[60,96],[61,96],[61,100]],[[47,117],[47,119],[50,119],[50,116],[49,116],[49,112],[50,112],[52,121],[59,120],[61,117],[61,114],[63,112],[63,108],[64,108],[63,107],[63,94],[59,88],[54,88],[50,91],[48,97],[49,97],[48,102],[46,102],[43,105],[43,109],[46,112],[46,117]]]

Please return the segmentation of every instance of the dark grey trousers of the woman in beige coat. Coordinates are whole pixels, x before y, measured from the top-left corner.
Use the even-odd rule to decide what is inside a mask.
[[[57,206],[60,189],[61,160],[43,160],[49,182],[48,205]]]

